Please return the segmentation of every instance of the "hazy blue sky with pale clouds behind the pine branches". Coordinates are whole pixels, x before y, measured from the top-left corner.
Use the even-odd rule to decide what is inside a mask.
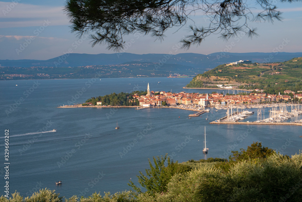
[[[252,2],[252,1],[248,1]],[[89,39],[79,40],[70,32],[70,23],[63,12],[65,1],[12,0],[0,1],[0,59],[51,59],[67,52],[72,53],[116,53],[106,45],[91,46]],[[188,25],[207,25],[206,16],[197,13],[193,21],[175,32],[168,30],[162,42],[149,36],[129,35],[124,41],[129,46],[122,52],[147,53],[201,53],[215,52],[302,52],[302,3],[278,3],[283,12],[283,21],[274,24],[250,22],[257,27],[259,37],[231,38],[225,42],[212,34],[200,46],[189,50],[177,48],[179,40],[190,34]],[[285,42],[286,41],[286,42]],[[282,45],[283,44],[283,45]],[[26,47],[24,47],[26,46]],[[276,49],[277,47],[277,49]],[[281,49],[279,48],[281,47]]]

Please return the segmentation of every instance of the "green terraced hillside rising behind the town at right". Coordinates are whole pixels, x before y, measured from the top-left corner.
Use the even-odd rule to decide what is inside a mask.
[[[281,88],[302,90],[302,57],[283,63],[219,65],[198,74],[187,88],[217,88],[217,85],[234,85],[241,89],[266,89],[274,93]]]

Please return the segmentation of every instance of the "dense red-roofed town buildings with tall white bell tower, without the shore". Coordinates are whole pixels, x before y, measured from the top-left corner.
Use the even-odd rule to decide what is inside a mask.
[[[223,95],[219,93],[200,94],[200,93],[172,93],[165,91],[150,91],[149,83],[147,95],[133,95],[133,98],[138,99],[140,107],[156,107],[156,106],[199,106],[199,107],[223,107],[228,105],[243,105],[243,104],[262,104],[271,102],[291,102],[297,98],[301,101],[302,92],[295,94],[293,91],[284,91],[284,94],[293,94],[293,98],[289,95],[270,95],[263,92],[262,89],[256,89],[255,93],[249,95]],[[101,101],[97,105],[102,105]]]

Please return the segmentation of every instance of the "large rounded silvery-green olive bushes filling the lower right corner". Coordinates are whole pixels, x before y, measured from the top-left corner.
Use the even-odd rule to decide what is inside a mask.
[[[177,174],[157,201],[302,201],[302,154]]]

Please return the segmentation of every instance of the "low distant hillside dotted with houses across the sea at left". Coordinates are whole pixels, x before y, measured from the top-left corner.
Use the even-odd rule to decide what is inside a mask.
[[[2,67],[0,65],[0,80],[168,77],[170,74],[191,76],[199,72],[203,72],[202,69],[152,62],[80,67]]]

